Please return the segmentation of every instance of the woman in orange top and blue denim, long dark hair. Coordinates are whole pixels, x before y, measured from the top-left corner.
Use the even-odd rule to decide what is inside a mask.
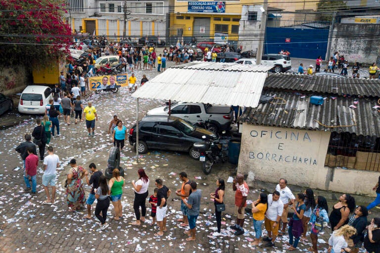
[[[259,195],[259,199],[252,203],[253,227],[255,229],[255,240],[251,243],[252,246],[259,245],[260,243],[261,226],[264,222],[267,209],[268,196],[262,192]]]

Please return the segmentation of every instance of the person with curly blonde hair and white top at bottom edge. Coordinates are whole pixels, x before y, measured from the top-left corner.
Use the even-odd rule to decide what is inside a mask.
[[[348,239],[356,234],[356,229],[349,226],[344,225],[341,228],[335,230],[331,237],[329,238],[329,249],[328,253],[343,253],[343,252],[351,252],[351,249],[348,248],[347,241]]]

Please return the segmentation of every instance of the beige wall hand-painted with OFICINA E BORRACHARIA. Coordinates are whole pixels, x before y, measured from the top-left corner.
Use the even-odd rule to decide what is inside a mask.
[[[289,184],[337,192],[374,195],[379,173],[325,167],[330,132],[244,123],[238,172],[247,181],[276,183],[284,177]],[[365,183],[358,178],[366,178]]]

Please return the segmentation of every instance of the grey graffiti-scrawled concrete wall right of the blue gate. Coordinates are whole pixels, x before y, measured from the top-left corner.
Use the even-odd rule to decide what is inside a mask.
[[[377,38],[372,36],[377,34],[380,34],[380,24],[335,24],[332,53],[339,51],[349,63],[372,64],[379,55],[380,40],[373,40]]]

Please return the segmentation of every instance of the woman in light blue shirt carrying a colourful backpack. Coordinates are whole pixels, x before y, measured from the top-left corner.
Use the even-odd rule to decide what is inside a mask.
[[[329,222],[329,207],[327,205],[327,200],[325,197],[318,196],[316,203],[317,206],[314,208],[313,213],[310,217],[311,230],[310,230],[310,239],[313,244],[312,247],[307,249],[310,252],[318,253],[317,242],[318,242],[318,233],[323,229],[323,223]]]

